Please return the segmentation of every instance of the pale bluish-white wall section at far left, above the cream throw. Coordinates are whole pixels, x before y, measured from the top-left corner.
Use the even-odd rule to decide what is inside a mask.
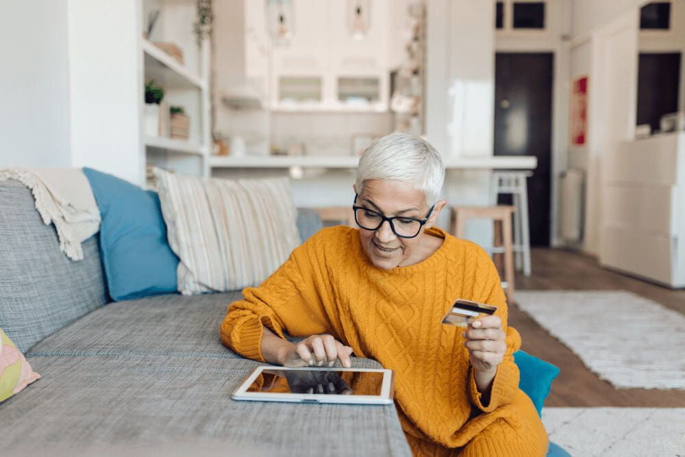
[[[67,1],[0,2],[0,166],[69,166]]]

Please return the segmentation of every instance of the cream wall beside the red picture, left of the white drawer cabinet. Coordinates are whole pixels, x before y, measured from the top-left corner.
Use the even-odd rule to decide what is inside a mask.
[[[638,1],[573,3],[575,38],[571,43],[571,82],[588,76],[588,132],[584,147],[572,147],[569,163],[586,171],[582,249],[601,252],[603,157],[621,140],[634,136]]]

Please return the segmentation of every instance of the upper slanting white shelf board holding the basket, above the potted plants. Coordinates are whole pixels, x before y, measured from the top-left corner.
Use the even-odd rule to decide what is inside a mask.
[[[145,55],[145,81],[155,80],[155,84],[167,88],[201,88],[207,83],[199,75],[180,64],[171,55],[159,49],[149,40],[142,40]]]

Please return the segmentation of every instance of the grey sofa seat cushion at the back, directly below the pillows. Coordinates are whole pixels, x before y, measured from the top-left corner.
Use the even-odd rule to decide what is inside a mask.
[[[170,294],[103,306],[34,346],[29,356],[163,354],[237,357],[219,326],[240,292]]]

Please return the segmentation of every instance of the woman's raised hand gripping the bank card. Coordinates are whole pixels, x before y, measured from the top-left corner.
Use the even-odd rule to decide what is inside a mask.
[[[494,378],[497,365],[503,360],[507,349],[502,320],[499,316],[487,316],[471,321],[463,336],[466,339],[464,346],[469,349],[471,367],[476,374],[491,374]]]

